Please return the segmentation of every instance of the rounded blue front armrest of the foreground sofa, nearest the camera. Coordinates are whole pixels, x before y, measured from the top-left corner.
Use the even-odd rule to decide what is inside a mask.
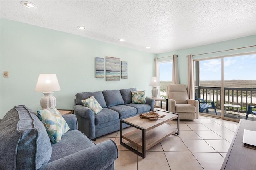
[[[44,164],[40,170],[104,170],[113,164],[117,158],[117,146],[114,141],[109,140]]]

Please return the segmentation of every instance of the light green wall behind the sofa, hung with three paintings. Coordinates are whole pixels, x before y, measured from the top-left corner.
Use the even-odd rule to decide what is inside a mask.
[[[151,96],[154,54],[78,35],[1,18],[1,118],[15,105],[40,109],[42,92],[34,92],[40,73],[57,74],[61,91],[54,92],[56,108],[73,109],[75,94],[136,87]],[[128,62],[128,79],[95,78],[95,57]],[[3,72],[10,77],[4,78]]]

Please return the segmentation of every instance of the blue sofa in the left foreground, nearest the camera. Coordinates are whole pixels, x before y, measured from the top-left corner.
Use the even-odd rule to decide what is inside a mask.
[[[118,149],[109,140],[95,145],[77,130],[75,115],[63,115],[70,130],[52,144],[44,124],[24,105],[3,117],[0,133],[1,170],[114,170]]]

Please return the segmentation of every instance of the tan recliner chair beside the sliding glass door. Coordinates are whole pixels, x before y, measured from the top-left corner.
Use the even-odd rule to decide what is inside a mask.
[[[182,120],[198,119],[198,100],[188,99],[188,91],[184,84],[170,84],[167,86],[168,111],[178,113]]]

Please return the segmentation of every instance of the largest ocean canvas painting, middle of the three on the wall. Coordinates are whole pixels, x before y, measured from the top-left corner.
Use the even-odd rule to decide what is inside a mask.
[[[120,59],[106,56],[106,81],[120,81]]]

